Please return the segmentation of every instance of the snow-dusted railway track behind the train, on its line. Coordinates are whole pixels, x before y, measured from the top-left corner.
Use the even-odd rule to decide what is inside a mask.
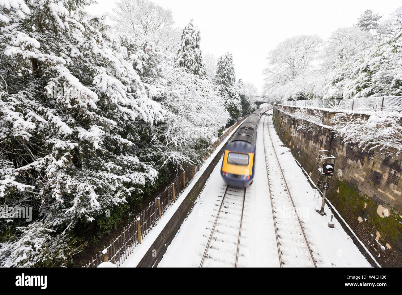
[[[199,267],[237,267],[246,188],[228,185],[219,197],[222,200]]]

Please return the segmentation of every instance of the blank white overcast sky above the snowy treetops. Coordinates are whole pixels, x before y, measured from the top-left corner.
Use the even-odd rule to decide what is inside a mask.
[[[92,14],[111,12],[114,2],[97,0]],[[384,18],[402,5],[397,0],[152,0],[172,10],[175,25],[183,28],[191,18],[201,31],[201,51],[216,58],[233,53],[236,78],[262,90],[262,71],[271,49],[295,35],[323,39],[341,26],[351,26],[366,9]]]

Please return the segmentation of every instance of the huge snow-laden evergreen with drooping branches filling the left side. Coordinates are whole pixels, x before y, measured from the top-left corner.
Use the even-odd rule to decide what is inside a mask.
[[[157,177],[138,146],[142,126],[163,120],[158,89],[87,4],[0,2],[0,201],[35,212],[0,225],[2,266],[61,265],[76,226]]]

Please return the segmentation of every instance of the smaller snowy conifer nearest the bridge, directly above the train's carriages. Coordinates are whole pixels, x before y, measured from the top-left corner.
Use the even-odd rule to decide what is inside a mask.
[[[219,57],[216,68],[216,83],[224,99],[231,121],[234,122],[242,115],[242,104],[236,89],[236,75],[234,73],[232,53]]]

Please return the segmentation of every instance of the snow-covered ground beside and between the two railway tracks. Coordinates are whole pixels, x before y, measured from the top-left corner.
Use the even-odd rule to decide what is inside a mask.
[[[271,118],[269,118],[271,121]],[[256,149],[256,173],[254,182],[246,189],[242,234],[238,267],[279,267],[277,244],[271,202],[269,199],[267,171],[265,167],[263,121],[258,126]],[[355,246],[352,239],[334,218],[334,228],[328,227],[331,215],[316,213],[320,201],[314,201],[314,189],[295,162],[290,150],[282,144],[272,124],[269,124],[273,144],[277,151],[289,190],[299,209],[300,219],[318,267],[370,267],[369,262]],[[221,159],[222,161],[222,159]],[[226,185],[220,176],[219,162],[205,183],[191,213],[176,233],[158,267],[199,267],[211,228],[215,221]],[[275,185],[275,183],[271,183]],[[222,192],[223,191],[223,192]],[[234,225],[238,228],[238,224]],[[233,243],[231,241],[231,243]],[[222,257],[235,257],[236,247],[214,249]],[[231,258],[230,258],[231,259]],[[233,261],[234,264],[234,261]],[[211,266],[214,264],[210,264]],[[218,265],[216,263],[215,265]]]

